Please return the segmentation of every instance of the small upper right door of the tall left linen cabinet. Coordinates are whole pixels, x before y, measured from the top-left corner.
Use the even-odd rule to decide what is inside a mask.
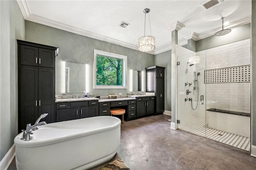
[[[55,51],[51,49],[44,49],[44,48],[39,48],[38,49],[39,53],[39,66],[41,67],[54,67],[54,56],[55,56]]]

